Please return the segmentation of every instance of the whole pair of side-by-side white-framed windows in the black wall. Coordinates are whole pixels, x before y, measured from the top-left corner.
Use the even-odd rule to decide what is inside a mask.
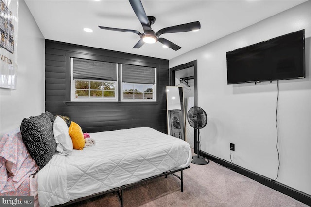
[[[155,91],[154,67],[71,58],[71,101],[155,101]]]

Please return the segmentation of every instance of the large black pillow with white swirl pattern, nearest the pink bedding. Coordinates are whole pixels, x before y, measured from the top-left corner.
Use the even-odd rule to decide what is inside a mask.
[[[20,125],[23,142],[39,169],[43,168],[56,151],[53,125],[44,115],[24,118]]]

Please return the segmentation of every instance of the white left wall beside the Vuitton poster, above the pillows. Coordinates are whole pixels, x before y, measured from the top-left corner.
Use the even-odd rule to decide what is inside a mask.
[[[23,0],[18,11],[17,89],[0,89],[1,137],[45,109],[45,40]]]

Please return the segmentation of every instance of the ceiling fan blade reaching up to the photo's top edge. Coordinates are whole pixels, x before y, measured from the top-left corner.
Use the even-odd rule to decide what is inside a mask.
[[[144,10],[144,7],[141,4],[140,0],[129,0],[138,20],[140,21],[142,28],[144,29],[144,33],[149,34],[151,31],[151,26]]]

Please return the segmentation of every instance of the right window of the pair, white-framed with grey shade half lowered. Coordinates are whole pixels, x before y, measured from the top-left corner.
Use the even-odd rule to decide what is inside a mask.
[[[121,64],[121,101],[155,101],[155,68]]]

